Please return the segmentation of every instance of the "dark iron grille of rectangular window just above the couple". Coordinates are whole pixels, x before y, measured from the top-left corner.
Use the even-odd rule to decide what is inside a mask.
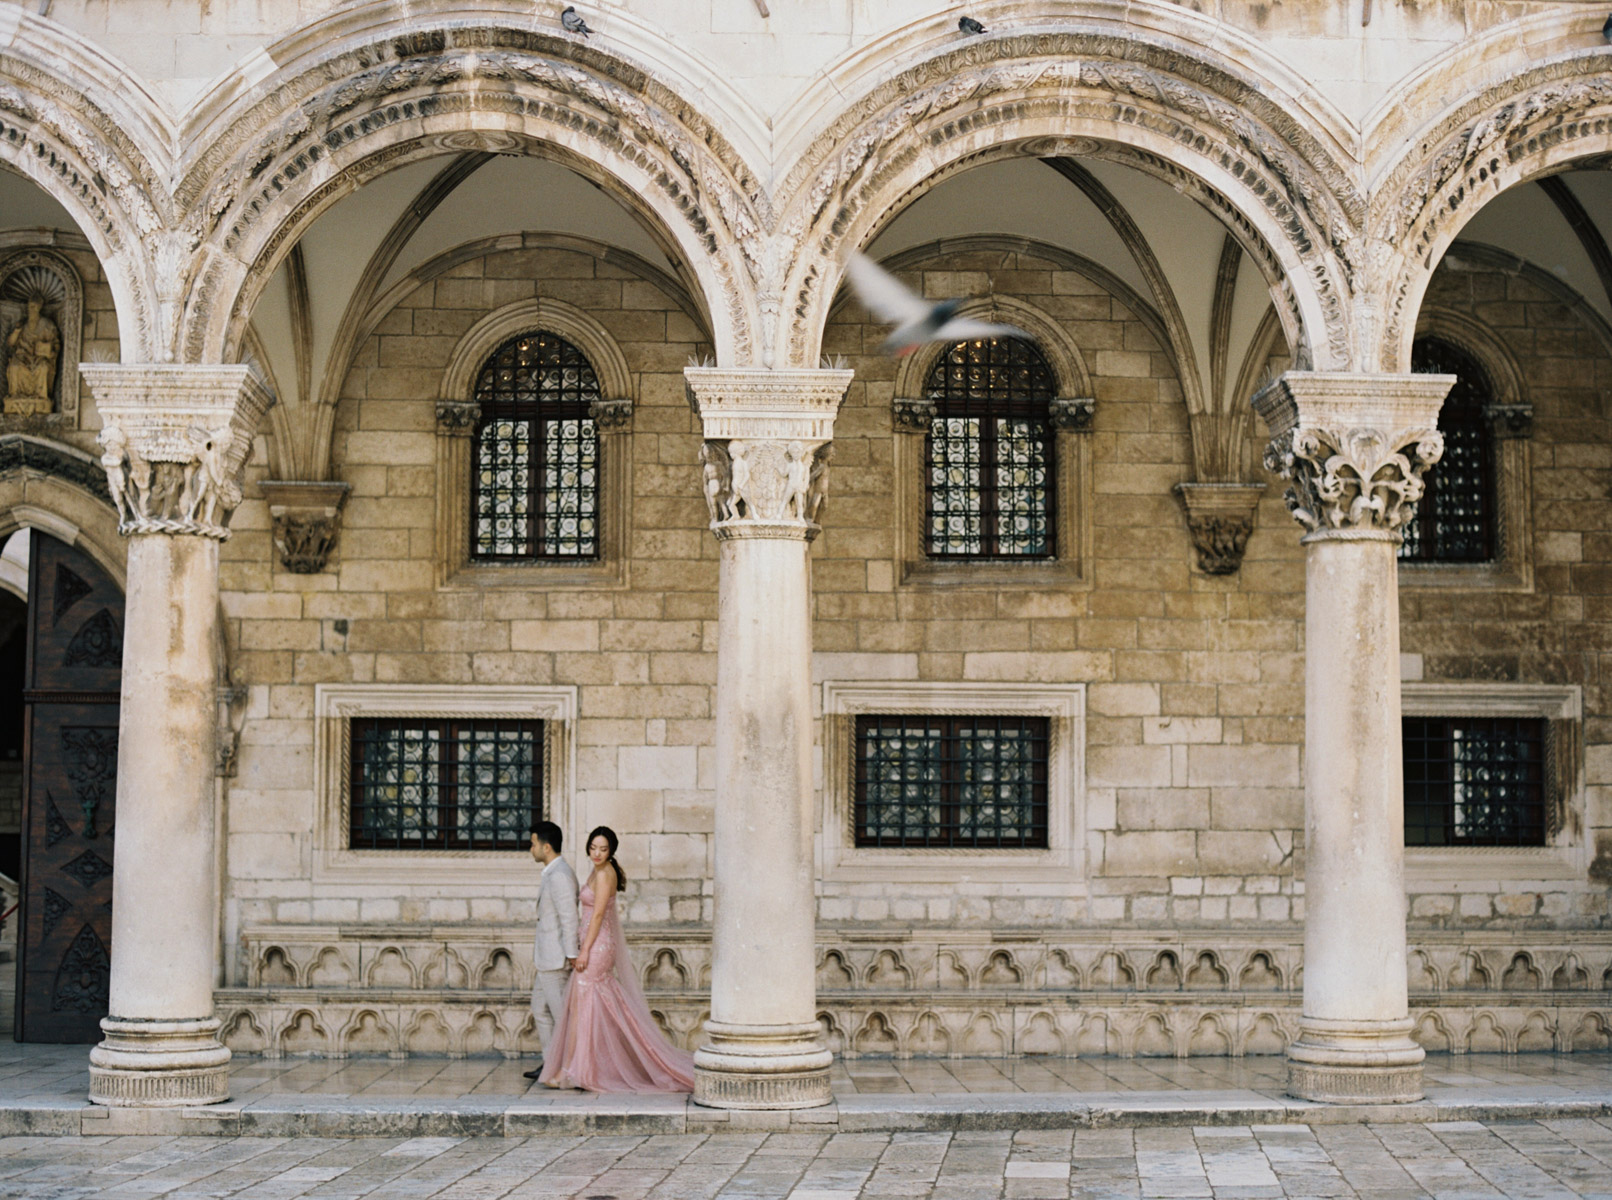
[[[351,723],[353,850],[524,850],[543,819],[542,721]]]

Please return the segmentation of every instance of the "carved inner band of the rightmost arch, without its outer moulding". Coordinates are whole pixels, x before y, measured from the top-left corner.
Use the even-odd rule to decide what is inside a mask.
[[[1599,39],[1599,34],[1596,34]],[[1427,287],[1467,223],[1520,184],[1612,161],[1612,48],[1539,63],[1456,98],[1372,189],[1380,247],[1367,281],[1380,335],[1362,347],[1372,369],[1409,369]]]

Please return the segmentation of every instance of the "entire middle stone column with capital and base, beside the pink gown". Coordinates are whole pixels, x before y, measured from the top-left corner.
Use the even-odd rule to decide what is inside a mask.
[[[716,921],[695,1100],[825,1105],[812,889],[811,574],[850,371],[688,368],[721,542]]]

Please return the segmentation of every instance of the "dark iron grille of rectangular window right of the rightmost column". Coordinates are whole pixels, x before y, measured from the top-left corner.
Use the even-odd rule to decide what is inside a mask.
[[[1544,718],[1407,716],[1406,845],[1544,845],[1554,779]]]

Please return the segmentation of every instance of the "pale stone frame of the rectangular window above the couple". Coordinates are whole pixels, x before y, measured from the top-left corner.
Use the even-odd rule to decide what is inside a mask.
[[[521,850],[369,850],[351,847],[351,721],[542,721],[542,794],[548,819],[571,835],[575,810],[574,685],[316,684],[313,881],[387,884],[492,884],[527,887],[532,856]]]

